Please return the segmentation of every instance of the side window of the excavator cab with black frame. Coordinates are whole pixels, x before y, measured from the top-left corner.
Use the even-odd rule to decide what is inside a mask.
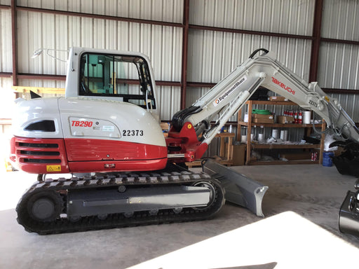
[[[156,109],[149,67],[142,57],[83,53],[79,81],[79,95],[121,97]]]

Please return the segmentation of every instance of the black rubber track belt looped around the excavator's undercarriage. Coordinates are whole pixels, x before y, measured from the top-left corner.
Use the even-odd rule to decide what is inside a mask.
[[[148,186],[158,184],[185,184],[191,185],[198,181],[208,181],[215,186],[215,202],[206,209],[184,208],[179,214],[175,214],[172,209],[160,210],[155,216],[148,212],[135,212],[130,218],[123,214],[109,214],[107,219],[101,220],[97,216],[82,217],[79,221],[72,222],[67,218],[59,218],[55,221],[43,222],[30,218],[27,213],[27,200],[35,193],[43,191],[57,191],[66,193],[66,191],[83,188],[104,188],[118,186]],[[66,197],[64,197],[65,203]],[[128,226],[140,226],[149,224],[200,221],[210,219],[224,205],[224,190],[219,181],[212,179],[203,172],[195,173],[191,171],[171,172],[162,171],[158,173],[137,173],[137,174],[107,174],[105,176],[85,177],[71,179],[46,179],[43,182],[33,184],[18,202],[16,212],[18,212],[18,223],[24,226],[28,232],[47,235],[52,233],[72,233],[86,230],[99,230],[109,228],[121,228]]]

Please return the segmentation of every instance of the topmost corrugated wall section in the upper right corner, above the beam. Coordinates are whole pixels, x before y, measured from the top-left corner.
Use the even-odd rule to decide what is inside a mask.
[[[359,1],[324,0],[322,36],[359,41]]]

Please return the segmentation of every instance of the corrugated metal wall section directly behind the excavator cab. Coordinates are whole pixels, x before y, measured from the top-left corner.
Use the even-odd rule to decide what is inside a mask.
[[[20,11],[18,36],[27,41],[18,43],[20,73],[65,75],[65,62],[46,55],[31,59],[31,55],[37,48],[67,50],[74,45],[138,51],[151,59],[156,80],[181,78],[181,28]],[[67,53],[56,55],[67,59]]]

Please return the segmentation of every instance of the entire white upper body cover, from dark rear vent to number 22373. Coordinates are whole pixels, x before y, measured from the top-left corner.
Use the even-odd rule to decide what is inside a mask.
[[[25,130],[40,120],[54,120],[55,132]],[[91,124],[76,126],[76,121]],[[166,146],[160,125],[145,109],[126,102],[84,97],[20,100],[13,118],[13,134],[33,138],[115,139]]]

